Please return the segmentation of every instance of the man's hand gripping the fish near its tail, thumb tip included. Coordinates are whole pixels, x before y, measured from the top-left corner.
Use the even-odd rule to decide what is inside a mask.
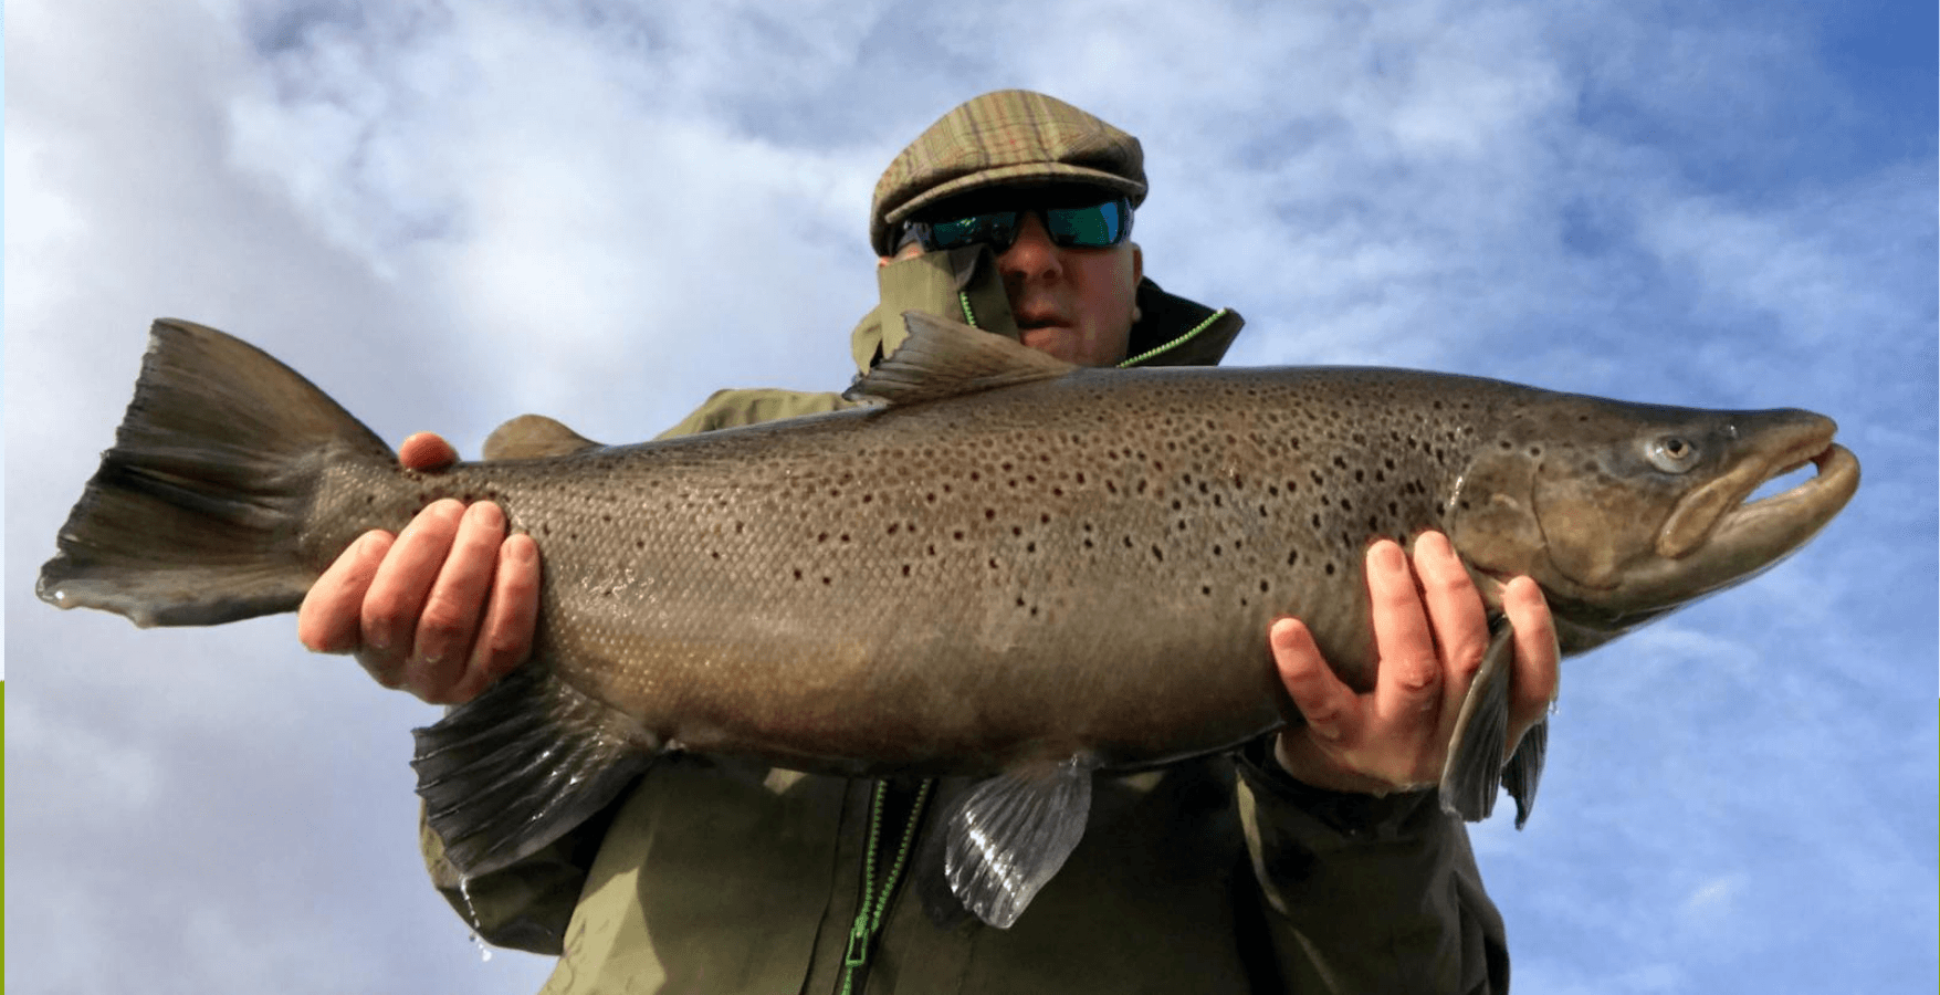
[[[431,433],[398,462],[438,471],[458,462]],[[355,654],[388,689],[462,704],[532,654],[539,619],[539,547],[504,533],[504,510],[436,500],[398,535],[367,531],[310,586],[297,638],[318,654]]]

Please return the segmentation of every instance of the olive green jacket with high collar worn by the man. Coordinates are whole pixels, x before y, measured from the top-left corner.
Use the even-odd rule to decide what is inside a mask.
[[[1017,336],[987,256],[929,254],[881,272],[854,332],[859,369],[910,308]],[[1131,353],[1211,365],[1240,332],[1147,281]],[[728,390],[667,434],[844,407],[840,394]],[[491,456],[491,454],[487,454]],[[945,780],[923,813],[966,786]],[[421,828],[438,890],[491,943],[559,954],[547,995],[669,993],[1502,993],[1502,917],[1463,824],[1432,791],[1302,786],[1271,741],[1240,756],[1100,776],[1069,861],[1011,929],[935,925],[904,881],[873,943],[852,941],[873,782],[737,760],[660,760],[599,818],[460,888]],[[873,830],[892,873],[908,786]],[[937,818],[918,822],[933,830]],[[918,853],[904,879],[922,873]],[[844,964],[846,958],[861,960]]]

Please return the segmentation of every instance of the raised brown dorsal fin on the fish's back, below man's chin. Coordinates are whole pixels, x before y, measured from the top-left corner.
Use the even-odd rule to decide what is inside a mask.
[[[875,398],[890,405],[920,403],[1050,380],[1079,369],[1003,336],[922,310],[902,312],[902,324],[908,326],[910,337],[857,378],[842,394],[844,398],[852,401]]]

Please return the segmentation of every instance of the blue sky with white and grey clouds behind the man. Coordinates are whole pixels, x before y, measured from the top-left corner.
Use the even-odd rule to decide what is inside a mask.
[[[954,103],[1137,134],[1147,273],[1236,365],[1808,407],[1810,547],[1564,665],[1478,824],[1517,991],[1936,985],[1930,0],[6,4],[6,983],[526,993],[417,855],[436,710],[293,617],[33,597],[147,324],[235,332],[390,440],[646,438],[830,390],[889,159]],[[17,985],[17,987],[16,987]]]

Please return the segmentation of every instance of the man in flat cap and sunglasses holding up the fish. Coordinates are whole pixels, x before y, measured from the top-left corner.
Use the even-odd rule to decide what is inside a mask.
[[[1084,367],[1214,365],[1242,322],[1145,279],[1129,241],[1145,194],[1139,142],[1084,111],[1028,91],[956,107],[877,184],[883,301],[854,332],[859,369],[894,353],[908,310]],[[722,392],[667,434],[852,403]],[[520,419],[485,456],[588,444]],[[400,460],[435,471],[456,454],[419,434]],[[310,590],[299,636],[427,702],[475,698],[528,656],[537,619],[539,543],[504,531],[497,504],[442,500],[365,535]],[[951,782],[667,756],[510,867],[460,884],[429,828],[427,859],[483,937],[561,956],[551,993],[1504,991],[1502,919],[1428,789],[1490,644],[1484,605],[1434,531],[1412,553],[1374,541],[1366,576],[1372,690],[1335,677],[1300,621],[1275,621],[1261,638],[1306,722],[1238,756],[1098,776],[1083,842],[1007,929],[902,894],[933,888],[925,815],[966,787]],[[1535,582],[1502,601],[1513,749],[1554,696],[1558,650]]]

